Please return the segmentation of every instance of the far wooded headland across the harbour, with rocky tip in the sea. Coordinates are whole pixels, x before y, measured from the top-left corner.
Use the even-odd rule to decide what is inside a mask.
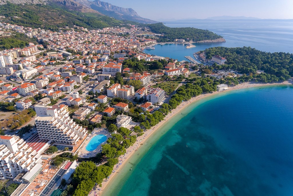
[[[196,29],[193,27],[171,28],[163,23],[149,24],[148,27],[154,33],[164,34],[159,39],[161,42],[174,41],[174,39],[185,39],[186,41],[202,41],[207,39],[222,38],[212,31]]]

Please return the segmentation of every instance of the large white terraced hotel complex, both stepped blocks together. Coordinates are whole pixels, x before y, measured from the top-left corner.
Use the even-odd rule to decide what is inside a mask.
[[[36,105],[38,133],[24,141],[19,136],[0,135],[0,180],[29,183],[44,169],[42,153],[51,143],[74,145],[86,129],[69,117],[67,105]]]

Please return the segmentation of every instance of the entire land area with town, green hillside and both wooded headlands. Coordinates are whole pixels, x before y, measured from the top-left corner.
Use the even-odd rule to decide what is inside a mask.
[[[13,196],[100,194],[189,103],[292,82],[293,54],[216,47],[179,62],[140,49],[223,38],[61,8],[0,6],[0,179]]]

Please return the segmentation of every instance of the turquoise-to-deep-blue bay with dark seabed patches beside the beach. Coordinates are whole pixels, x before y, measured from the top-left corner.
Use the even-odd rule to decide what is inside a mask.
[[[109,195],[293,195],[292,100],[293,86],[267,86],[197,102]]]

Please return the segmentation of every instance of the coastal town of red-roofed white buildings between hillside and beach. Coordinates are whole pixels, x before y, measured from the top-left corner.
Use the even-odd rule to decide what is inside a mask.
[[[158,43],[135,25],[54,32],[0,23],[0,35],[13,33],[36,39],[0,51],[0,180],[17,184],[13,196],[99,195],[177,107],[244,82],[239,71],[211,67],[227,62],[219,55],[144,53]],[[74,190],[86,164],[104,168],[100,182]]]

